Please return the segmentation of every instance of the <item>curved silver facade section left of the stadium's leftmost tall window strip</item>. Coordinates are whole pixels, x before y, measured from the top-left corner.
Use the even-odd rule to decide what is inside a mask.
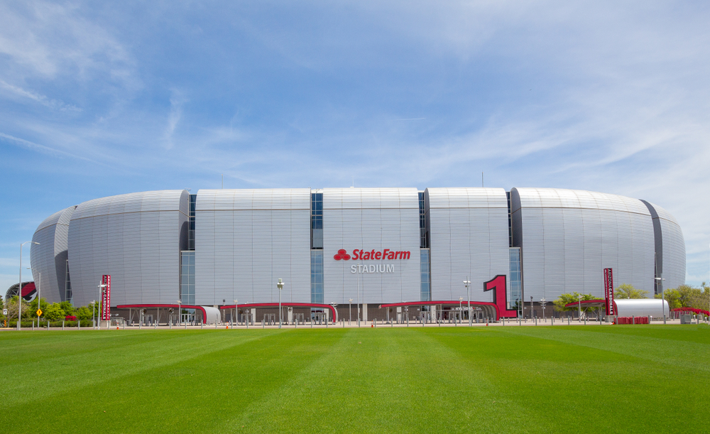
[[[89,200],[69,225],[69,264],[75,305],[99,296],[111,275],[114,304],[176,303],[187,190],[131,193]]]

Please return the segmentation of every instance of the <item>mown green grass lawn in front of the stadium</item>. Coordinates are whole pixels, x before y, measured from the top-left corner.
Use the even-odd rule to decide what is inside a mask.
[[[702,433],[710,327],[0,333],[3,433]]]

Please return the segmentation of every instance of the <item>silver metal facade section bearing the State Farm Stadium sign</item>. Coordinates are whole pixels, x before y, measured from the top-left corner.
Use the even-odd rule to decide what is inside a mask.
[[[416,188],[323,190],[324,301],[365,303],[420,300],[419,194]],[[409,251],[409,259],[337,261],[345,249]],[[392,272],[352,273],[354,264],[393,266]],[[374,268],[374,267],[373,267]],[[377,268],[381,269],[381,268]],[[386,268],[385,268],[386,269]]]

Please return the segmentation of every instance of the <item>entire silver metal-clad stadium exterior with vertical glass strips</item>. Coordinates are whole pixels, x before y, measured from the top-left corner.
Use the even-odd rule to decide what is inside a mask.
[[[657,277],[685,280],[682,231],[661,207],[551,188],[137,192],[56,212],[33,241],[42,296],[75,305],[96,300],[106,274],[111,306],[275,303],[278,278],[284,303],[452,304],[468,300],[468,280],[471,300],[500,307],[504,295],[510,312],[601,297],[603,268],[652,294]],[[500,276],[503,292],[486,291]]]

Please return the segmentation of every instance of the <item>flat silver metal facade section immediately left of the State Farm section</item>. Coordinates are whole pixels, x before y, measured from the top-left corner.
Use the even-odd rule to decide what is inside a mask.
[[[195,303],[310,302],[310,189],[200,190]]]

